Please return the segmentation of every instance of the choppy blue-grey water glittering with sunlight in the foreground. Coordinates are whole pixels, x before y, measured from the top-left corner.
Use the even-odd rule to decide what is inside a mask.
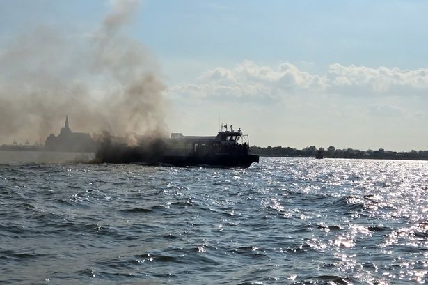
[[[418,284],[428,162],[0,165],[0,283]]]

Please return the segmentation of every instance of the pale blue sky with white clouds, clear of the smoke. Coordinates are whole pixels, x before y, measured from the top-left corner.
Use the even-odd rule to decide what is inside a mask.
[[[171,132],[428,150],[427,1],[129,1],[124,33],[156,63]],[[0,0],[0,56],[35,26],[79,45],[117,2]]]

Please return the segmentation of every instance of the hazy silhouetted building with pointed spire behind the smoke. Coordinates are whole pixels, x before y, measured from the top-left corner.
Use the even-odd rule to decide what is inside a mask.
[[[50,134],[45,141],[47,151],[65,151],[92,153],[95,152],[96,146],[90,134],[83,132],[72,132],[68,126],[68,116],[65,117],[64,127],[58,136]]]

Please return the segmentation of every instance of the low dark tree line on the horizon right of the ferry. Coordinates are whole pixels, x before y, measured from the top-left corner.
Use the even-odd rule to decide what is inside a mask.
[[[317,153],[322,153],[325,158],[371,158],[371,159],[387,159],[387,160],[428,160],[428,151],[386,151],[383,148],[378,150],[368,149],[360,151],[358,149],[345,148],[336,149],[334,146],[329,146],[327,149],[317,148],[316,146],[308,146],[303,149],[291,148],[289,146],[268,146],[263,148],[260,146],[251,146],[250,152],[260,156],[276,156],[276,157],[316,157]]]

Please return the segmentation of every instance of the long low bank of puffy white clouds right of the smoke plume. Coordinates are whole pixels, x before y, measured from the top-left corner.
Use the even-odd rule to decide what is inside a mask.
[[[294,95],[420,95],[428,91],[428,69],[368,68],[334,63],[325,74],[299,69],[292,63],[263,66],[243,61],[233,68],[214,68],[196,82],[169,88],[174,98],[210,98],[212,100],[281,100]]]

